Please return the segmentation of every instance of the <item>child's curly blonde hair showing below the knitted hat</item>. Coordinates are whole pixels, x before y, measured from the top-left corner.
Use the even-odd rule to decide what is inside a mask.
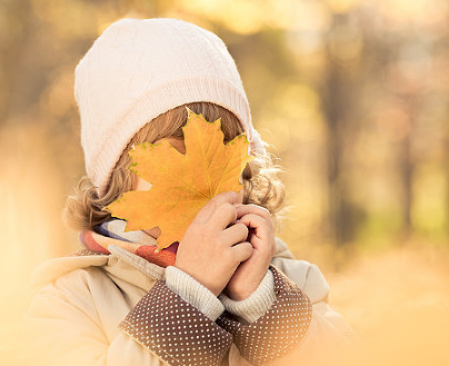
[[[152,144],[167,137],[183,138],[182,127],[187,122],[186,107],[196,113],[201,113],[208,121],[221,118],[225,142],[243,132],[238,118],[232,112],[211,102],[192,102],[158,116],[143,126],[129,141],[112,170],[102,197],[98,197],[97,187],[92,185],[89,177],[81,178],[73,195],[68,197],[63,211],[64,221],[70,228],[92,229],[111,218],[111,214],[104,207],[124,192],[134,189],[137,185],[137,175],[128,169],[131,164],[128,150],[133,145]],[[242,175],[243,204],[256,204],[267,208],[275,221],[285,202],[285,187],[278,177],[279,171],[279,167],[275,166],[271,157],[267,155],[252,160]]]

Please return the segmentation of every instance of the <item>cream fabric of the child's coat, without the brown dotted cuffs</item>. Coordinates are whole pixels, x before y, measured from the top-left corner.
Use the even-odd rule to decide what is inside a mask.
[[[164,278],[166,269],[118,247],[111,253],[57,258],[38,268],[24,316],[33,365],[38,359],[46,366],[168,365],[118,329],[156,281]],[[329,287],[318,267],[295,259],[280,239],[271,263],[309,297],[313,313],[303,340],[270,365],[321,365],[326,359],[336,365],[336,355],[351,353],[357,338],[329,307]],[[235,345],[228,359],[229,366],[250,365]]]

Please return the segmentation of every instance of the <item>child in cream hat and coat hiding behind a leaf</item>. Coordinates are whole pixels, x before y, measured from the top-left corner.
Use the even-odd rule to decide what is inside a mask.
[[[352,347],[319,269],[275,238],[283,186],[217,36],[174,19],[120,20],[78,65],[74,92],[88,177],[66,216],[86,249],[36,274],[33,364],[317,365]],[[104,207],[150,188],[128,170],[133,145],[168,139],[186,151],[187,107],[221,118],[225,142],[245,132],[256,159],[242,192],[212,198],[179,244],[156,253],[158,228],[124,231]]]

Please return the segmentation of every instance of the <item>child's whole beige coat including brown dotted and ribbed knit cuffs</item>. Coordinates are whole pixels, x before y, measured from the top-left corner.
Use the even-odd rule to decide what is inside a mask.
[[[214,297],[176,267],[110,251],[38,268],[24,315],[33,365],[336,365],[357,343],[318,267],[280,239],[242,301]]]

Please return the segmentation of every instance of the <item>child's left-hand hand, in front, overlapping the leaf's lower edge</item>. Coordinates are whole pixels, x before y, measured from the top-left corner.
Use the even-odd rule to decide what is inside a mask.
[[[179,244],[176,267],[218,296],[239,264],[251,256],[245,222],[236,222],[241,195],[229,191],[212,198],[196,216]],[[232,225],[233,224],[233,225]],[[228,225],[231,225],[228,228]]]

